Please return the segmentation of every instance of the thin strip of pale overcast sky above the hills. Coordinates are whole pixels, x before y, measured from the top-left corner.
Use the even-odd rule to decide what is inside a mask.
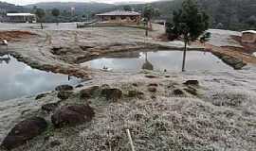
[[[38,2],[98,2],[98,3],[117,3],[117,2],[152,2],[157,0],[0,0],[15,5],[27,5]]]

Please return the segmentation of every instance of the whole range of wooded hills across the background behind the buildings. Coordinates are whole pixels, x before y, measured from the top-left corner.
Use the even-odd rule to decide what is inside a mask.
[[[154,8],[160,11],[161,19],[171,21],[173,11],[181,7],[184,0],[161,0],[151,3]],[[213,28],[230,30],[256,29],[256,0],[197,0],[201,8],[206,9],[210,15],[210,25]],[[52,8],[61,10],[60,22],[86,21],[93,19],[96,13],[121,9],[129,4],[138,12],[142,12],[145,4],[131,4],[129,0],[125,3],[104,4],[104,3],[38,3],[19,7],[8,3],[0,2],[0,13],[7,12],[29,12],[32,8],[46,9],[46,22],[54,22],[51,15]],[[75,15],[71,14],[71,8],[75,8]]]

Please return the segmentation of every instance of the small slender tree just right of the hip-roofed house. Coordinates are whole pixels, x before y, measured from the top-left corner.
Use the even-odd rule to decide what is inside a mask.
[[[143,8],[143,17],[145,20],[146,26],[146,36],[148,36],[148,29],[150,28],[152,30],[152,23],[151,20],[154,16],[159,15],[159,10],[152,7],[152,5],[146,5]],[[149,27],[150,25],[150,27]]]

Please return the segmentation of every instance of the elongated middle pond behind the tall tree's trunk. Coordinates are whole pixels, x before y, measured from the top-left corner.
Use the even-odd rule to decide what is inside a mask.
[[[83,62],[82,66],[111,71],[181,71],[183,51],[125,52]],[[233,68],[210,52],[188,51],[186,70],[227,71]]]

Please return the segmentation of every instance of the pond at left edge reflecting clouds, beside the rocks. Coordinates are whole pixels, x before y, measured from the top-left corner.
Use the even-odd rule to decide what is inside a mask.
[[[52,91],[61,84],[76,85],[80,79],[32,69],[9,55],[0,56],[0,101]]]

